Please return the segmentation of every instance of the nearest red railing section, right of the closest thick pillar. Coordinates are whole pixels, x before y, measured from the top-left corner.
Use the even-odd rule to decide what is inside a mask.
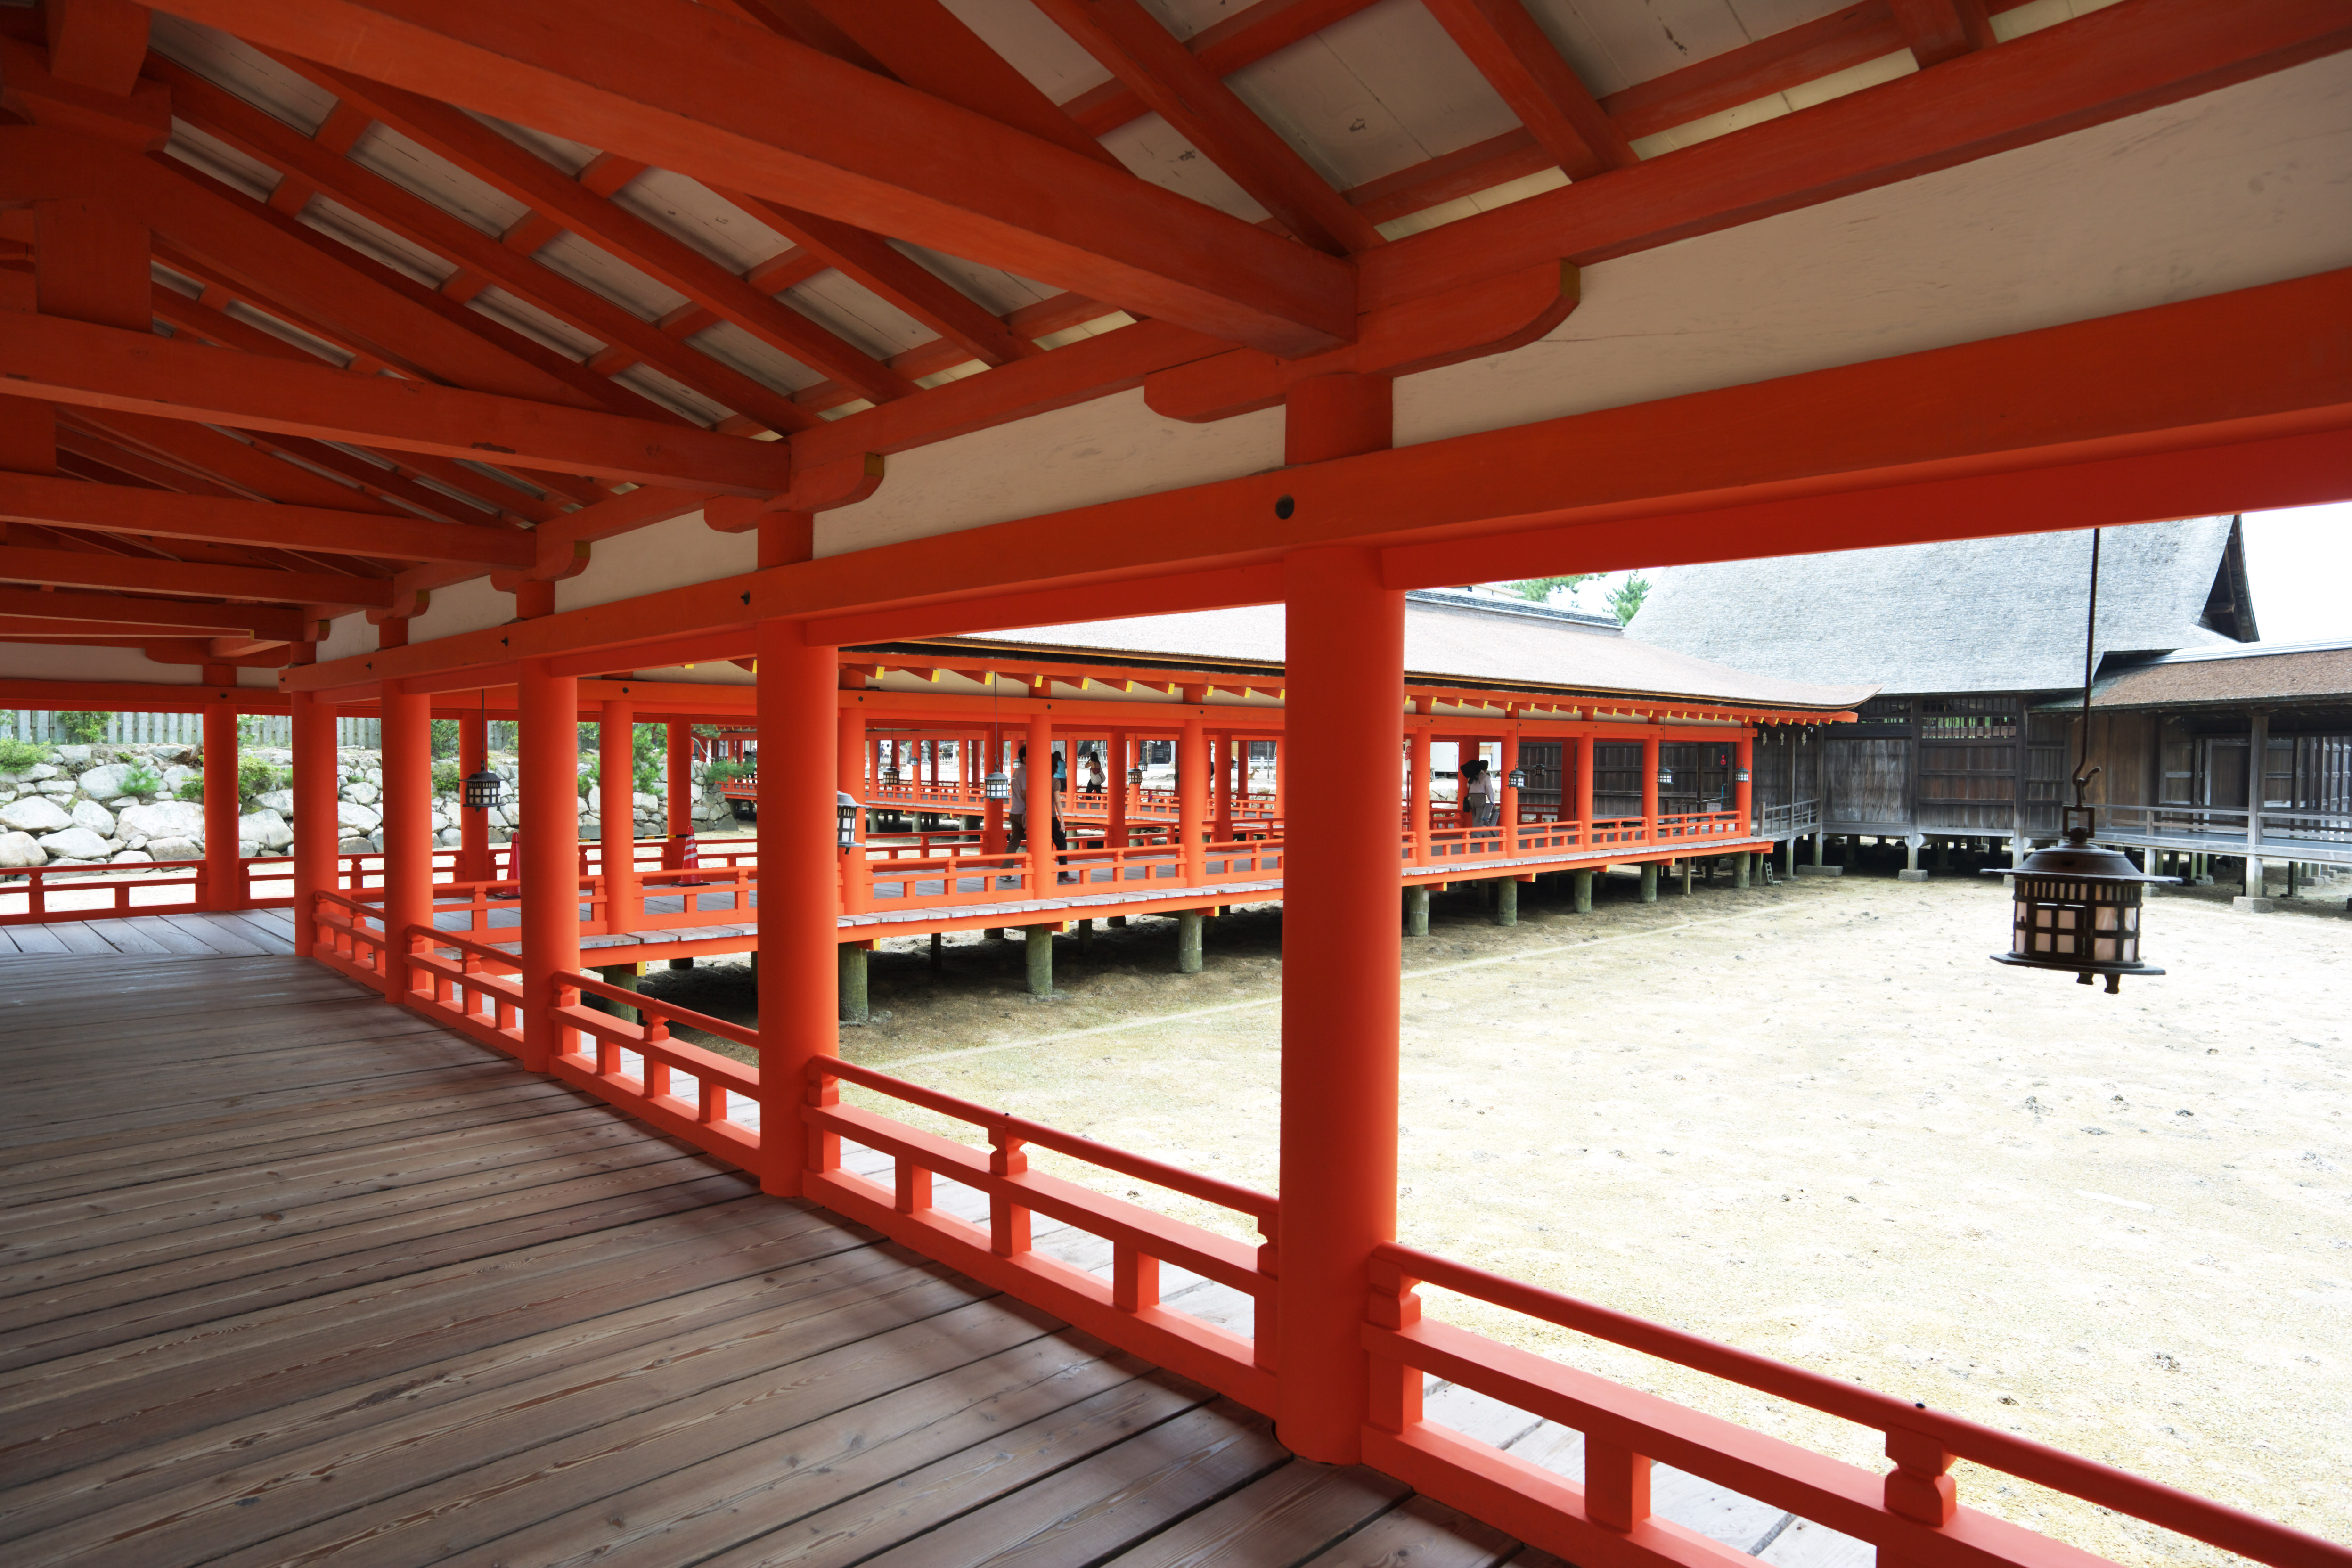
[[[1498,1345],[1421,1314],[1430,1284],[1884,1432],[1886,1474],[1823,1458],[1656,1394]],[[1752,1556],[1649,1512],[1649,1467],[1672,1465],[1879,1549],[1882,1563],[2077,1568],[2105,1559],[1959,1507],[1955,1460],[2131,1514],[2258,1563],[2340,1568],[2352,1552],[2011,1432],[1905,1403],[1625,1312],[1404,1246],[1371,1255],[1364,1324],[1371,1410],[1364,1462],[1581,1563],[1731,1568]],[[1583,1486],[1421,1418],[1423,1378],[1585,1436]]]

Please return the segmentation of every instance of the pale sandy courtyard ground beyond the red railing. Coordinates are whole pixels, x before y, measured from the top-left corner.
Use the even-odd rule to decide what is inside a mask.
[[[1399,1234],[2336,1540],[2352,1537],[2352,917],[2161,896],[2122,997],[2011,971],[1997,879],[1439,896],[1406,940]],[[873,961],[851,1060],[1275,1190],[1279,914]],[[750,976],[649,990],[750,1018]],[[898,1107],[891,1107],[898,1110]],[[908,1117],[924,1121],[922,1117]],[[924,1121],[938,1131],[948,1124]],[[1047,1164],[1047,1161],[1040,1161]],[[1228,1234],[1228,1215],[1122,1178]],[[1435,1316],[1884,1469],[1877,1436],[1475,1302]],[[1990,1472],[2126,1563],[2234,1561]]]

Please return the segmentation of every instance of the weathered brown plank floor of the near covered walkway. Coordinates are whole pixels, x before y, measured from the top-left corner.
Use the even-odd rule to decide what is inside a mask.
[[[318,966],[0,1018],[16,1568],[1552,1561]]]

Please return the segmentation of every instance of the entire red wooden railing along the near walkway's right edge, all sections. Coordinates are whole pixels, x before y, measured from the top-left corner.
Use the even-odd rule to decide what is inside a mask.
[[[318,952],[336,969],[372,978],[383,961],[381,931],[365,931],[372,914],[367,905],[320,893]],[[329,945],[329,936],[336,945]],[[412,929],[405,936],[416,938],[405,954],[405,1001],[496,1051],[520,1056],[522,1011],[534,999],[508,978],[517,959],[449,933]],[[341,945],[346,938],[348,945]],[[586,997],[637,1009],[642,1023],[593,1011],[583,1006]],[[557,1027],[557,1077],[717,1159],[757,1168],[757,1070],[670,1037],[673,1027],[687,1025],[755,1053],[755,1030],[604,985],[586,973],[555,976],[550,994],[536,999],[536,1006]],[[691,1086],[682,1079],[691,1079]],[[842,1084],[960,1121],[988,1147],[844,1105]],[[795,1110],[811,1133],[804,1145],[804,1190],[814,1201],[1254,1410],[1275,1410],[1275,1258],[1282,1220],[1275,1197],[833,1058],[809,1063],[800,1098]],[[764,1110],[783,1114],[783,1107]],[[891,1182],[844,1168],[844,1143],[887,1157]],[[1033,1171],[1030,1147],[1247,1215],[1263,1241],[1249,1246]],[[934,1201],[938,1180],[985,1197],[985,1225],[943,1211]],[[1040,1253],[1030,1241],[1033,1215],[1108,1241],[1110,1276]],[[1244,1293],[1254,1302],[1251,1338],[1162,1302],[1162,1262]],[[1830,1460],[1670,1399],[1430,1321],[1423,1316],[1421,1284],[1879,1429],[1893,1469],[1877,1474]],[[1571,1561],[1635,1568],[1755,1563],[1649,1512],[1649,1472],[1656,1462],[1870,1542],[1882,1563],[2091,1568],[2105,1561],[1959,1507],[1950,1469],[1955,1460],[1971,1460],[2258,1563],[2352,1566],[2345,1547],[2107,1465],[1414,1248],[1376,1246],[1369,1286],[1359,1331],[1371,1359],[1367,1465]],[[1583,1481],[1423,1420],[1421,1394],[1430,1375],[1583,1434]]]

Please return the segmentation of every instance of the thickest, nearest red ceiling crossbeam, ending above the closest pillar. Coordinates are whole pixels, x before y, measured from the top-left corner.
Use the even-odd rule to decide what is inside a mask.
[[[689,0],[162,9],[1254,348],[1355,317],[1343,261]]]

